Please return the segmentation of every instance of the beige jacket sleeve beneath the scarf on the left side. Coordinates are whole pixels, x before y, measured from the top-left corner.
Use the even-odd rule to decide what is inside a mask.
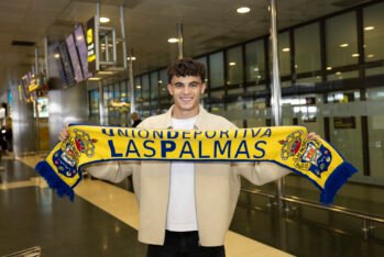
[[[84,169],[92,177],[119,183],[133,172],[133,165],[123,164],[127,161],[107,161],[87,165]]]

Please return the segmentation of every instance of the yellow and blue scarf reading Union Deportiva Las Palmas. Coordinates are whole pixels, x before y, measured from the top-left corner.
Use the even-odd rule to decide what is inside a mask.
[[[74,199],[81,167],[105,160],[272,161],[307,177],[329,204],[356,169],[323,139],[307,139],[303,126],[231,131],[143,130],[70,125],[36,170],[59,195]]]

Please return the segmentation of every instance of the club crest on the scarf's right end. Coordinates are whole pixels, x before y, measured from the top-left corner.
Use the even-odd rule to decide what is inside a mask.
[[[282,159],[292,157],[297,169],[311,171],[320,178],[321,172],[328,170],[332,155],[320,141],[303,139],[301,135],[303,131],[296,131],[279,142],[283,145]]]

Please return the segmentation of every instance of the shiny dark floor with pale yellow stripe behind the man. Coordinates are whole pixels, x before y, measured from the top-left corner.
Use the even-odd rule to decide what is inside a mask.
[[[136,239],[138,206],[129,181],[85,179],[70,202],[57,198],[36,176],[32,167],[40,159],[2,159],[0,256],[32,246],[41,246],[42,256],[145,256],[146,246]],[[287,192],[318,197],[316,190],[298,183],[289,178]],[[263,190],[274,188],[267,185]],[[351,192],[364,191],[361,187],[345,188],[348,193],[341,193],[337,203],[383,215],[383,189],[366,188],[365,193],[373,194],[367,202],[351,198]],[[359,219],[297,205],[281,215],[267,203],[265,198],[241,193],[226,238],[227,256],[384,256],[381,224],[364,236]]]

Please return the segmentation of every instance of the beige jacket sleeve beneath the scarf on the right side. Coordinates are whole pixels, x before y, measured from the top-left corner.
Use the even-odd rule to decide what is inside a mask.
[[[232,163],[235,172],[256,186],[278,180],[290,174],[290,170],[279,165],[257,161],[257,163]]]

